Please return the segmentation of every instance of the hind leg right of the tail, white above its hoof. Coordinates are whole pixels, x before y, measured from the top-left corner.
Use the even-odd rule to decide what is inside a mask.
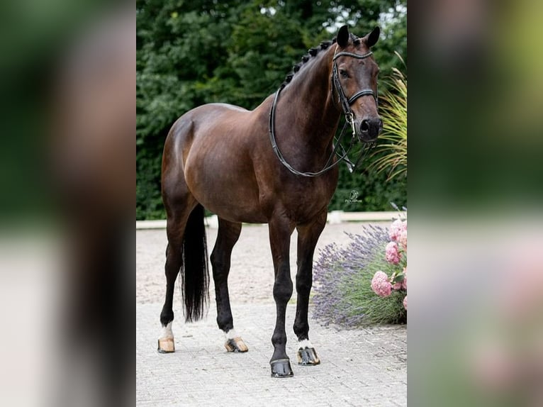
[[[226,335],[225,347],[228,352],[247,352],[247,346],[234,330],[230,296],[228,294],[228,273],[232,249],[240,237],[241,223],[233,223],[219,218],[219,230],[213,252],[211,266],[215,281],[215,299],[217,301],[217,324]]]

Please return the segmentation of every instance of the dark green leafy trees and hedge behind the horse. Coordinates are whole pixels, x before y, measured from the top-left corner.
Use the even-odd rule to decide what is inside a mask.
[[[405,0],[137,0],[136,217],[164,217],[162,146],[179,116],[215,101],[254,108],[279,87],[308,48],[332,38],[342,23],[349,23],[359,35],[381,25],[383,34],[374,52],[386,76],[398,63],[393,52],[406,55],[405,12],[394,11],[405,4]],[[364,206],[342,203],[352,189],[359,190]],[[345,169],[331,207],[381,210],[389,208],[389,201],[402,199],[405,182],[389,183],[366,172],[352,177]]]

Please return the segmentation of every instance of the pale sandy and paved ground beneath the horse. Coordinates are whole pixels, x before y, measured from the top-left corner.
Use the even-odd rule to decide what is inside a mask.
[[[345,231],[362,233],[362,224],[327,225],[318,247],[330,242],[346,244],[349,238]],[[210,251],[215,237],[216,230],[208,229]],[[310,319],[310,338],[321,364],[302,367],[296,364],[296,336],[292,331],[295,301],[289,303],[286,315],[287,352],[294,377],[271,379],[269,358],[275,304],[271,297],[273,269],[265,226],[244,226],[230,272],[234,323],[249,352],[233,354],[223,347],[223,333],[215,323],[212,283],[208,316],[198,323],[183,323],[177,289],[177,318],[173,324],[176,352],[158,354],[165,231],[138,230],[136,240],[137,406],[407,405],[405,326],[345,330],[323,327]],[[292,276],[295,251],[296,233],[291,242]]]

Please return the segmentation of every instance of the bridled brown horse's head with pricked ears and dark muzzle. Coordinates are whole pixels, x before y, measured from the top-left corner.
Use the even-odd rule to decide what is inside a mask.
[[[347,26],[337,33],[337,48],[332,67],[332,86],[340,99],[347,120],[352,120],[359,140],[376,140],[383,129],[377,111],[379,67],[370,48],[379,40],[379,27],[363,38],[349,34]],[[350,116],[350,117],[349,117]]]

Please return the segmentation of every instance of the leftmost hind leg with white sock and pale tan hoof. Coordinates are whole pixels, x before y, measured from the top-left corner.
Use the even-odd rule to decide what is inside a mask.
[[[174,334],[172,333],[172,321],[174,320],[173,301],[174,288],[177,275],[183,263],[183,238],[186,223],[193,209],[189,205],[189,199],[185,205],[177,205],[174,210],[169,206],[167,217],[166,233],[168,245],[166,248],[166,264],[164,272],[166,274],[166,299],[160,313],[160,323],[162,324],[162,334],[158,340],[158,352],[174,352]]]

